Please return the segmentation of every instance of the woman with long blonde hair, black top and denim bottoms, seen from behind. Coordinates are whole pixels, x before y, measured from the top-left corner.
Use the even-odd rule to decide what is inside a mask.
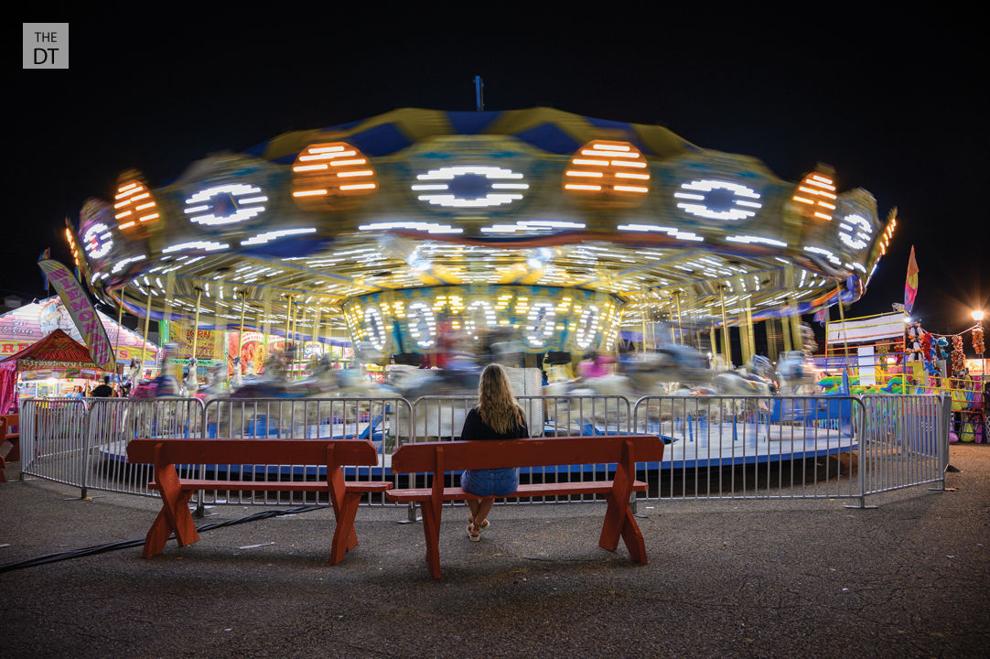
[[[461,439],[525,439],[529,437],[526,417],[512,395],[509,378],[498,364],[489,364],[478,384],[478,406],[468,412]],[[481,529],[488,526],[488,513],[495,497],[512,494],[519,487],[519,472],[514,468],[465,470],[461,475],[465,492],[482,497],[469,499],[471,517],[468,538],[481,540]]]

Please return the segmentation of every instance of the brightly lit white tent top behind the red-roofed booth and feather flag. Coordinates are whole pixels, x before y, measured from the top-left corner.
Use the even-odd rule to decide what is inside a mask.
[[[156,368],[158,346],[150,341],[144,341],[140,334],[127,329],[106,314],[97,311],[97,315],[106,330],[110,345],[114,347],[118,372],[127,369],[132,360],[141,360],[142,354],[144,355],[143,372],[149,374]],[[79,330],[58,296],[25,304],[0,315],[0,358],[24,350],[56,329],[62,330],[74,341],[83,343]]]

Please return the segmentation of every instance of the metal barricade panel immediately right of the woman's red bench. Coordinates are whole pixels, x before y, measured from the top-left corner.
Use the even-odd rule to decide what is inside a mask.
[[[862,500],[863,412],[851,396],[645,396],[632,430],[666,447],[637,478],[651,499]]]

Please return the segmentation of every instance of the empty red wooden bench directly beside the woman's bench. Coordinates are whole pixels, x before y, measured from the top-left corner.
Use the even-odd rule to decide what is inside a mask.
[[[255,492],[328,492],[337,525],[330,544],[330,564],[344,560],[357,546],[354,518],[361,495],[384,492],[386,481],[348,482],[342,465],[376,466],[375,446],[367,440],[324,439],[135,439],[127,445],[127,461],[154,465],[152,487],[162,497],[162,509],[144,542],[144,557],[165,549],[175,533],[179,546],[199,540],[189,512],[189,498],[197,490],[243,490]],[[326,481],[275,482],[237,480],[180,480],[177,464],[293,464],[327,468]]]

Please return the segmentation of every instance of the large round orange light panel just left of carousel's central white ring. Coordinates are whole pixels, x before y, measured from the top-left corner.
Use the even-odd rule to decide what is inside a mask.
[[[346,142],[310,144],[292,165],[292,198],[307,210],[347,207],[348,198],[377,189],[371,162]]]

